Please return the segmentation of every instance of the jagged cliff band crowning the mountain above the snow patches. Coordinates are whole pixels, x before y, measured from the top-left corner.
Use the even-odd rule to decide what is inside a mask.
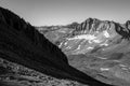
[[[69,26],[73,26],[73,24]],[[127,20],[126,24],[119,24],[110,20],[100,20],[98,18],[88,18],[81,24],[78,24],[77,26],[75,26],[74,29],[76,29],[75,32],[83,30],[88,33],[90,32],[90,30],[91,32],[93,32],[93,31],[102,31],[109,28],[115,29],[116,32],[122,35],[122,38],[125,39],[130,38],[130,20]]]

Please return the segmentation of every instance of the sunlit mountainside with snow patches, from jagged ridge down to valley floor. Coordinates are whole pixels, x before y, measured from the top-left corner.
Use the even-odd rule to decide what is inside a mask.
[[[63,32],[63,31],[64,32]],[[50,35],[56,35],[52,39]],[[115,80],[114,83],[130,80],[130,22],[119,24],[88,18],[75,27],[62,26],[44,35],[64,54],[73,67],[84,73]],[[102,78],[101,78],[102,80]],[[112,82],[112,81],[110,81]],[[129,85],[128,85],[129,86]]]

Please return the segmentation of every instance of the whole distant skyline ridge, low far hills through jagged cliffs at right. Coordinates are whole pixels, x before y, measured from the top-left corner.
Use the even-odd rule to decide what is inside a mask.
[[[93,33],[94,31],[103,31],[106,29],[113,30],[115,29],[118,34],[120,34],[123,39],[130,38],[130,20],[127,20],[125,24],[119,24],[113,20],[101,20],[98,18],[89,17],[82,23],[74,22],[72,24],[68,24],[66,26],[42,26],[37,27],[37,29],[49,29],[54,30],[55,29],[62,29],[62,28],[69,28],[74,29],[73,34],[77,35],[80,33]],[[113,29],[110,29],[113,28]]]

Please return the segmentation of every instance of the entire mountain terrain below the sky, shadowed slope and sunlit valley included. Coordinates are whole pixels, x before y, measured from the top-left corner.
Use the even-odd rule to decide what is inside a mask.
[[[0,86],[130,86],[130,22],[36,27],[0,8]]]

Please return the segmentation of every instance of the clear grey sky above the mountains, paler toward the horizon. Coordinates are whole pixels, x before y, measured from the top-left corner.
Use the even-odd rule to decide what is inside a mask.
[[[81,23],[89,17],[118,23],[130,20],[130,0],[0,0],[0,6],[32,26]]]

